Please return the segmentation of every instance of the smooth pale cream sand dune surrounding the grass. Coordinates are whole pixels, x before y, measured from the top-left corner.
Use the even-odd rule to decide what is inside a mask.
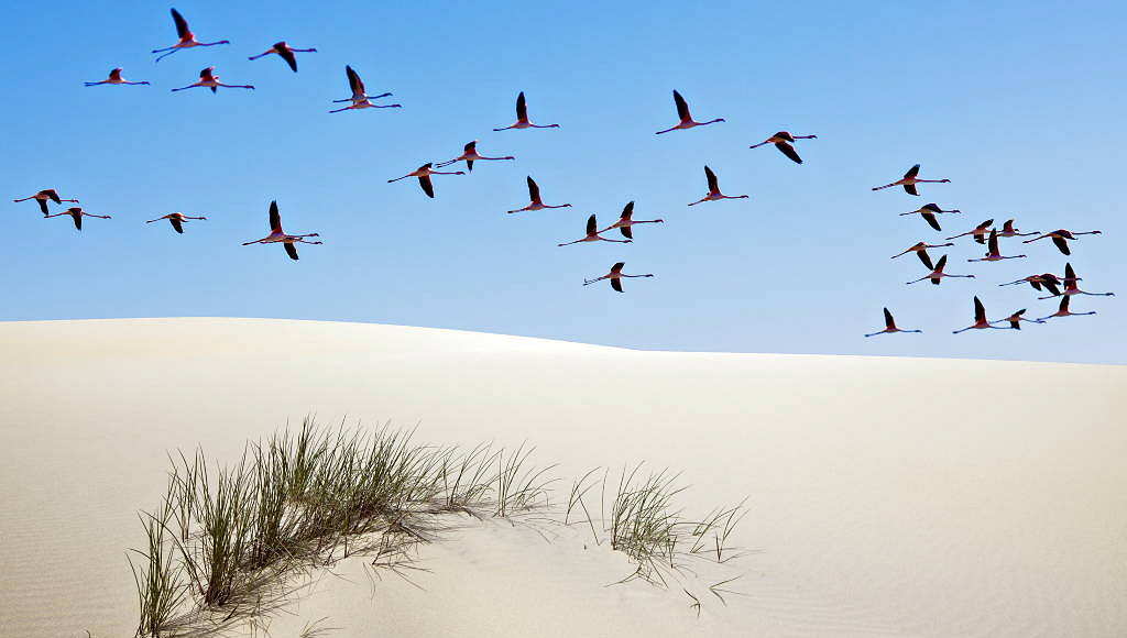
[[[471,524],[423,549],[421,590],[346,562],[272,636],[1127,635],[1127,367],[243,319],[0,324],[0,633],[131,635],[124,550],[166,453],[308,413],[527,440],[561,477],[667,466],[690,512],[747,497],[753,551],[743,595],[696,618],[673,587],[606,586],[630,566],[578,530]]]

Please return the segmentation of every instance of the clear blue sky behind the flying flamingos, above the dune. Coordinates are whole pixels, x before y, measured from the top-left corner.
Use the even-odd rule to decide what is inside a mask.
[[[1121,187],[1127,126],[1117,2],[220,2],[175,5],[202,41],[153,64],[176,41],[169,5],[32,2],[0,25],[8,72],[0,154],[5,291],[0,318],[237,316],[372,321],[482,330],[640,348],[922,355],[1127,363],[1127,258]],[[278,39],[318,48],[292,73]],[[370,92],[402,109],[329,115],[348,95],[352,64]],[[255,91],[172,94],[199,69]],[[149,87],[85,88],[113,67]],[[715,124],[655,136],[676,122],[678,89]],[[506,131],[517,91],[533,121],[561,129]],[[801,141],[798,166],[773,148]],[[455,157],[478,139],[469,176],[437,176],[437,198],[398,177]],[[913,163],[922,196],[870,187]],[[686,207],[710,165],[728,194],[749,200]],[[506,215],[533,176],[548,203],[574,209]],[[34,202],[56,187],[112,220],[43,220]],[[277,200],[290,232],[320,232],[301,262],[266,234]],[[628,201],[631,245],[557,248],[589,213],[610,224]],[[960,209],[943,232],[924,203]],[[54,207],[54,205],[53,205]],[[186,233],[143,220],[207,215]],[[1056,310],[1021,276],[1062,273],[1044,240],[1003,240],[1004,254],[968,264],[951,247],[939,287],[919,240],[940,242],[988,218],[1022,230],[1100,229],[1073,243],[1083,287],[1074,311],[1014,330],[951,330],[971,322],[978,294],[991,318]],[[933,250],[938,258],[942,250]],[[618,260],[625,294],[582,285]],[[888,305],[923,335],[862,334]],[[170,336],[175,338],[175,336]]]

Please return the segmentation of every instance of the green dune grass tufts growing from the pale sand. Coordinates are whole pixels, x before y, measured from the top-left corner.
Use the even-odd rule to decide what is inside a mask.
[[[249,443],[234,464],[221,467],[203,451],[170,458],[161,506],[141,514],[145,549],[130,552],[136,635],[221,632],[276,610],[290,583],[349,556],[374,557],[372,568],[402,575],[412,547],[450,529],[443,516],[512,519],[551,506],[554,466],[534,466],[533,448],[463,450],[418,444],[412,435],[387,425],[322,428],[307,418]],[[573,524],[573,509],[582,508],[602,543],[584,502],[593,477],[595,470],[574,484],[562,523]],[[641,466],[623,470],[601,521],[611,549],[650,581],[662,567],[676,568],[682,546],[690,555],[715,550],[720,561],[742,517],[736,507],[685,521],[672,506],[684,489],[676,479],[664,471],[642,477]]]

